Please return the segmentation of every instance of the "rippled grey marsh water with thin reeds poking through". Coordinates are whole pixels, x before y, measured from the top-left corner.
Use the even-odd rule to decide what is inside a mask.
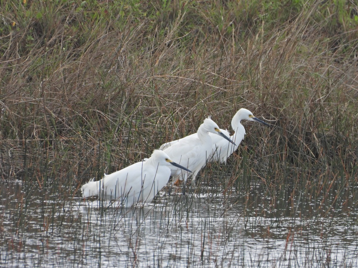
[[[357,218],[349,205],[320,213],[299,198],[257,202],[260,193],[255,200],[209,188],[160,194],[155,203],[124,209],[3,182],[0,267],[358,265]]]

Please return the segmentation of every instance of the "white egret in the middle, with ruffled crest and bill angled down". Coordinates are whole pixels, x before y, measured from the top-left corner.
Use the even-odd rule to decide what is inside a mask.
[[[225,139],[228,143],[234,144],[229,136],[226,136],[213,120],[206,118],[204,123],[199,126],[195,135],[189,135],[179,139],[173,145],[163,150],[169,155],[170,159],[193,170],[192,183],[194,183],[195,176],[200,169],[206,165],[209,155],[212,152],[213,142],[208,132],[212,133],[212,136],[222,137],[222,139]],[[179,180],[184,180],[185,187],[189,176],[188,172],[184,172],[175,167],[171,167],[170,169],[171,176],[173,176],[173,183],[179,178]]]

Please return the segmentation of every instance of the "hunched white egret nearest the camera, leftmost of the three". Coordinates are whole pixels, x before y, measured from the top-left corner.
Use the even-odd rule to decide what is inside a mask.
[[[146,161],[105,175],[96,182],[84,184],[81,187],[82,196],[85,198],[97,195],[101,199],[116,199],[125,207],[136,203],[144,204],[150,202],[168,183],[170,167],[191,172],[173,162],[165,152],[154,150]]]

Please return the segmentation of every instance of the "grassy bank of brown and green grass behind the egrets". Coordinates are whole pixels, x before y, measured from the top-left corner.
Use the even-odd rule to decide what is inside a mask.
[[[1,1],[2,180],[77,195],[245,107],[273,127],[247,123],[209,184],[352,211],[358,7],[331,2]]]

